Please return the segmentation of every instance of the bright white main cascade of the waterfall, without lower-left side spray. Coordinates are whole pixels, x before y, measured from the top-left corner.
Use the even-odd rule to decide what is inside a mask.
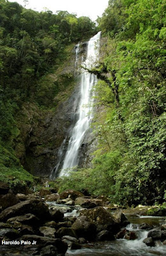
[[[87,45],[87,57],[86,61],[82,63],[87,68],[94,66],[95,61],[98,59],[99,47],[100,47],[100,35],[93,36]],[[79,45],[76,48],[76,60],[75,65],[77,66],[79,54]],[[93,118],[92,113],[92,103],[93,103],[93,93],[92,88],[96,83],[96,76],[94,74],[89,74],[83,68],[81,70],[81,82],[80,82],[80,102],[79,102],[79,117],[73,127],[73,131],[68,142],[68,149],[66,155],[64,156],[64,163],[59,176],[68,176],[70,168],[77,166],[79,163],[79,148],[84,139],[87,129],[89,129],[89,124]]]

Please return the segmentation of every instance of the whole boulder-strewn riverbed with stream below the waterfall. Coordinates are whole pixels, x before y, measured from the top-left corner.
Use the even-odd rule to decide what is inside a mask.
[[[0,192],[0,251],[5,256],[130,255],[123,253],[133,243],[140,249],[166,247],[165,218],[148,223],[146,217],[124,214],[126,209],[110,205],[105,196],[94,198],[72,189],[59,195],[45,188],[15,195],[6,184]],[[109,254],[108,246],[119,247],[121,253]]]

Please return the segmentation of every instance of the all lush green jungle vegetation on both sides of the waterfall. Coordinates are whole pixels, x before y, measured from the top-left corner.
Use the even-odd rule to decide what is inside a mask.
[[[116,204],[164,201],[165,9],[165,0],[109,0],[96,28],[87,17],[38,13],[0,0],[1,180],[8,172],[5,177],[15,172],[18,180],[20,173],[34,179],[15,157],[15,113],[26,101],[46,108],[38,79],[58,67],[68,45],[101,30],[100,60],[89,70],[98,76],[92,124],[98,149],[91,168],[71,172],[58,184],[61,190],[109,196]],[[56,93],[52,88],[52,97]]]

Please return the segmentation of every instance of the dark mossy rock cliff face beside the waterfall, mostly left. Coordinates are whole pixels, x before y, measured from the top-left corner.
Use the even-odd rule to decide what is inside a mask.
[[[86,54],[86,42],[80,45],[80,54],[77,66]],[[63,92],[55,97],[56,108],[43,110],[36,104],[27,102],[17,115],[20,134],[15,141],[17,157],[26,170],[34,175],[49,176],[58,161],[58,150],[66,138],[73,120],[73,111],[76,111],[76,101],[79,99],[79,70],[75,70],[75,49],[72,49],[70,58],[59,67],[54,74],[49,75],[53,81],[65,83],[70,81]],[[64,86],[65,87],[65,86]],[[48,99],[47,99],[48,100]],[[85,139],[80,148],[80,165],[88,162],[88,148],[91,148],[93,136]]]

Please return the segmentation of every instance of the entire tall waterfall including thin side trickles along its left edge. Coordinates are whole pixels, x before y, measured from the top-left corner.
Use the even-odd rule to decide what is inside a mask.
[[[91,68],[98,60],[99,48],[100,48],[100,36],[101,32],[94,35],[87,44],[87,56],[86,60],[82,59],[82,65],[86,68]],[[75,68],[78,67],[79,56],[79,44],[75,47]],[[56,177],[68,176],[71,168],[79,164],[79,150],[82,145],[82,141],[86,136],[86,132],[89,129],[89,125],[93,118],[93,86],[96,84],[97,78],[94,74],[88,73],[84,68],[81,68],[80,72],[80,97],[76,99],[76,113],[77,116],[75,124],[70,127],[70,140],[66,154],[64,154],[66,138],[64,139],[61,147],[59,148],[56,167],[52,170],[50,179]],[[75,118],[73,118],[75,120]]]

